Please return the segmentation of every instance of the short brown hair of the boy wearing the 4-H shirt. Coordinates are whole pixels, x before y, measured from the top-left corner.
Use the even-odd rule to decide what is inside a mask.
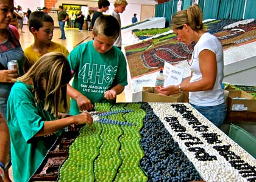
[[[99,16],[93,26],[94,36],[105,35],[107,37],[118,38],[120,25],[117,19],[112,15]]]

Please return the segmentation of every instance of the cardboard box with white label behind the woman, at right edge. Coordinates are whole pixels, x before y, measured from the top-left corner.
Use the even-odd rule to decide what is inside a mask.
[[[227,108],[235,111],[256,111],[256,100],[243,90],[231,89],[227,97]]]

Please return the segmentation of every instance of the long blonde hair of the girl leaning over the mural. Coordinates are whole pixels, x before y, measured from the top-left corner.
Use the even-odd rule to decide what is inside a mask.
[[[68,111],[66,100],[66,84],[72,78],[68,59],[63,53],[50,52],[41,56],[28,72],[18,78],[22,82],[32,80],[32,92],[37,103],[44,103],[44,110],[49,110],[55,117],[58,115],[58,106]],[[44,91],[42,81],[46,82]],[[51,110],[50,110],[51,109]]]

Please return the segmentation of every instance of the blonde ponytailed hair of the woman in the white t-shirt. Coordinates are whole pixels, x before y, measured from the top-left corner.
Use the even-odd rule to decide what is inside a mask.
[[[171,29],[182,29],[184,24],[189,25],[196,32],[207,31],[202,22],[202,11],[199,5],[191,5],[187,10],[181,10],[172,16]]]

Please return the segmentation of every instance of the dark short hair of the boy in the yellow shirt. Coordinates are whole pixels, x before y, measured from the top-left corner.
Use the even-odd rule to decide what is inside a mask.
[[[31,32],[31,27],[34,27],[35,30],[39,30],[43,27],[44,22],[52,22],[54,24],[52,17],[44,12],[31,13],[29,17],[29,31]]]

